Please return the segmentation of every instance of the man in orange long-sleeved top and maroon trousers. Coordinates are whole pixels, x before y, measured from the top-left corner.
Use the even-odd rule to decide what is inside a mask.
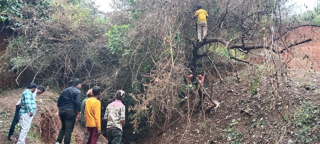
[[[93,96],[85,102],[84,119],[86,131],[90,133],[87,144],[96,144],[98,136],[101,134],[101,103],[97,99],[100,93],[100,87],[94,86],[92,88]]]

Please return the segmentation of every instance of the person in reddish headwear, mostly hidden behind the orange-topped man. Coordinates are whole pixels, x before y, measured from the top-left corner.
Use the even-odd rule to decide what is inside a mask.
[[[81,126],[84,127],[84,133],[83,133],[83,142],[82,144],[86,144],[89,139],[89,131],[85,129],[85,119],[84,119],[84,111],[85,111],[85,103],[89,98],[93,96],[92,89],[88,90],[87,92],[87,97],[82,101],[81,103],[81,116],[80,116],[80,121],[81,121]]]

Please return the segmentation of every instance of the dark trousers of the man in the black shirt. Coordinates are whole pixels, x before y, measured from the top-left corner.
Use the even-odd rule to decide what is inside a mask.
[[[71,133],[76,123],[76,111],[73,110],[59,110],[59,117],[61,120],[61,129],[59,131],[56,142],[62,143],[64,136],[64,144],[70,144]]]

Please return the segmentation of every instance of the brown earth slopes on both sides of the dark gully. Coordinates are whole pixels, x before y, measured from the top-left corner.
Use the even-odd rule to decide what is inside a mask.
[[[183,112],[172,117],[173,123],[168,129],[153,131],[153,134],[136,143],[268,143],[279,139],[283,143],[319,143],[320,73],[288,69],[287,74],[281,78],[283,81],[279,79],[277,85],[280,97],[266,88],[269,82],[264,74],[260,77],[259,92],[254,95],[248,88],[249,78],[244,74],[240,74],[244,78],[240,83],[235,81],[234,76],[227,77],[225,83],[215,83],[213,86],[214,98],[221,103],[217,111],[212,110],[208,114],[200,111],[188,117],[188,104],[184,103],[180,107]],[[7,144],[13,143],[6,140],[5,136],[13,117],[13,106],[22,91],[15,89],[2,94],[0,140]],[[60,126],[58,118],[52,117],[56,109],[56,98],[57,93],[52,91],[37,96],[38,111],[28,134],[29,142],[52,143],[52,139],[55,139]],[[195,95],[190,98],[190,107],[195,98]],[[18,126],[16,133],[19,131]],[[74,143],[82,141],[81,136],[82,130],[77,124]]]

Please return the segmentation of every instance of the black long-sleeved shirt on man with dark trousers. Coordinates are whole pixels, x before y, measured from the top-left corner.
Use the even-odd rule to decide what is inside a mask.
[[[59,110],[80,111],[81,96],[81,92],[76,86],[64,89],[58,99]]]

